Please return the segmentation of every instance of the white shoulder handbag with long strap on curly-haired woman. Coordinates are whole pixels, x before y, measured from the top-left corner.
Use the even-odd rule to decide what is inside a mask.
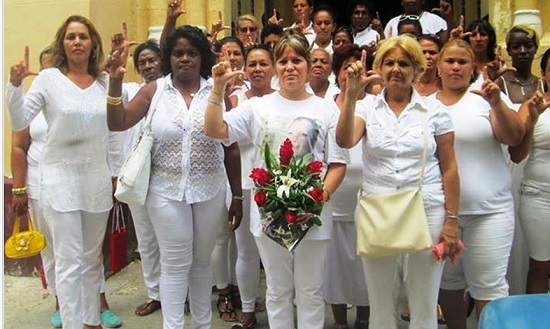
[[[120,168],[117,178],[115,198],[128,204],[145,204],[151,175],[151,148],[155,140],[151,121],[164,89],[164,78],[157,80],[157,90],[145,117],[139,141]]]

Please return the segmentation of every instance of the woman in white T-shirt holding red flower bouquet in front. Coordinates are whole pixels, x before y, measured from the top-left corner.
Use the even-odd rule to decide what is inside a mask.
[[[230,112],[222,111],[225,86],[243,72],[231,70],[225,61],[212,68],[214,87],[206,108],[204,132],[223,139],[224,143],[248,140],[264,146],[265,157],[260,148],[254,154],[255,166],[267,166],[267,169],[256,168],[253,171],[258,190],[255,201],[260,206],[278,206],[260,213],[253,203],[251,228],[266,272],[269,327],[296,327],[293,307],[296,296],[297,327],[321,329],[325,313],[321,287],[332,218],[329,207],[324,207],[322,212],[320,209],[340,185],[346,168],[346,156],[336,145],[334,136],[339,111],[334,102],[308,94],[305,90],[310,63],[309,45],[304,37],[291,32],[281,39],[274,53],[280,90],[250,99]],[[309,147],[312,152],[303,157],[294,156],[296,150],[290,139],[298,131],[307,144],[300,150]],[[278,159],[269,150],[277,150],[281,144]],[[292,175],[293,170],[295,175]],[[274,180],[283,183],[275,187]],[[310,188],[304,187],[306,182],[311,183]],[[262,192],[259,185],[276,188],[277,192]],[[291,210],[288,205],[293,200],[289,195],[298,196],[297,199],[303,200],[303,203]],[[320,215],[307,214],[315,212],[305,204],[316,207]],[[285,217],[279,214],[285,214]],[[312,226],[291,252],[263,233],[267,225],[263,227],[262,221],[265,223],[273,219],[273,222],[278,222],[281,218],[291,222],[288,227],[293,229],[297,227],[293,226],[294,222],[311,221],[321,225]],[[280,233],[292,235],[288,229],[281,229]],[[243,327],[251,328],[252,325],[245,323]]]

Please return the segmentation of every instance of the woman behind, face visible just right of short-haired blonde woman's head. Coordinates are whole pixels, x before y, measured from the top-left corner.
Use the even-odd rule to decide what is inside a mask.
[[[438,36],[431,34],[423,34],[416,40],[420,43],[424,57],[426,57],[426,70],[414,83],[414,88],[420,95],[429,96],[441,89],[441,79],[437,75],[437,62],[443,44]]]

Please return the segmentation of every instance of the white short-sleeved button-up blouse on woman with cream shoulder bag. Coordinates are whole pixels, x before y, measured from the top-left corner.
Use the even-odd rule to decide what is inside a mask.
[[[356,106],[355,115],[366,124],[363,194],[391,193],[419,186],[423,122],[427,119],[429,138],[422,191],[425,205],[438,205],[444,201],[444,194],[435,137],[453,132],[451,117],[448,112],[430,106],[414,89],[410,103],[396,117],[384,99],[385,94],[384,90],[379,95],[367,95]]]

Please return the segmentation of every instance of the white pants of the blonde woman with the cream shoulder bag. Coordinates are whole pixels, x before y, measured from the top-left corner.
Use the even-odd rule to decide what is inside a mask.
[[[439,241],[443,227],[444,209],[426,209],[433,243]],[[443,262],[436,261],[431,250],[392,257],[362,257],[365,280],[369,291],[371,329],[397,329],[397,291],[400,264],[407,273],[405,288],[409,298],[411,322],[409,328],[437,329],[437,297]]]

